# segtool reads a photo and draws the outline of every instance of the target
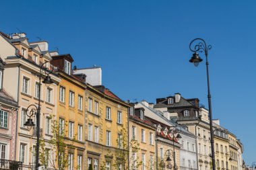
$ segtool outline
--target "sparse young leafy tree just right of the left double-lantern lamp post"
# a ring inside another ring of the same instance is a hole
[[[50,140],[40,137],[39,162],[44,170],[64,170],[69,165],[68,144],[65,143],[67,131],[64,128],[67,122],[59,122],[55,116],[50,118],[52,137]]]

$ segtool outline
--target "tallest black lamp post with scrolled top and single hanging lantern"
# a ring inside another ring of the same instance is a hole
[[[195,44],[194,44],[195,43]],[[193,46],[194,45],[194,46]],[[193,48],[192,48],[193,47]],[[197,52],[204,52],[206,58],[206,73],[207,73],[207,88],[208,88],[208,105],[209,105],[209,117],[210,117],[210,132],[211,132],[211,148],[212,148],[212,169],[216,170],[215,165],[215,155],[214,155],[214,130],[212,127],[212,103],[211,103],[211,93],[210,93],[210,82],[209,82],[209,62],[208,62],[208,50],[212,48],[211,45],[207,45],[205,40],[201,38],[195,38],[189,44],[189,49],[194,52],[193,56],[189,60],[189,62],[193,62],[195,67],[199,65],[203,59],[200,58]]]

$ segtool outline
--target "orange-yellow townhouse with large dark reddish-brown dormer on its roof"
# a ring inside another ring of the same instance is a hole
[[[83,170],[85,162],[85,90],[86,75],[75,77],[71,73],[73,58],[70,54],[55,55],[51,63],[61,82],[57,91],[57,120],[63,126],[68,149],[67,169]],[[67,126],[64,126],[67,124]]]

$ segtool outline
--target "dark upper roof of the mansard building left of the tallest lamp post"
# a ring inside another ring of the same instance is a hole
[[[180,101],[178,103],[173,103],[173,104],[166,104],[167,103],[167,100],[168,98],[174,98],[174,96],[168,96],[166,97],[164,100],[160,101],[159,103],[156,103],[154,105],[154,108],[168,108],[168,107],[172,107],[172,108],[175,108],[175,107],[186,107],[186,106],[195,106],[193,105],[193,103],[187,101],[187,99],[184,99],[183,97],[181,97]]]

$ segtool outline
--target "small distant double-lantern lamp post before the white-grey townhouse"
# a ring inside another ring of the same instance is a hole
[[[168,149],[166,151],[166,157],[167,157],[166,161],[168,162],[168,169],[172,169],[172,166],[170,164],[170,161],[171,161],[170,156],[172,155],[173,163],[174,163],[173,167],[174,167],[174,170],[177,170],[178,166],[176,165],[176,154],[175,154],[175,147],[174,147],[174,134],[177,134],[176,138],[179,140],[181,138],[181,134],[179,134],[181,132],[181,127],[171,126],[171,128],[173,128],[172,131],[171,131],[173,150],[171,151],[170,149]]]

